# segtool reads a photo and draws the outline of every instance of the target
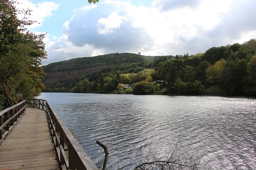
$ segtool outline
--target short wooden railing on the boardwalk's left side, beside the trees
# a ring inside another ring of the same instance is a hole
[[[26,109],[26,100],[0,112],[0,142],[19,121]],[[4,133],[4,134],[3,134]]]

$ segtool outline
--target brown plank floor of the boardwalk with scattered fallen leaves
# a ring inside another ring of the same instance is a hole
[[[0,170],[58,170],[56,150],[45,111],[26,108],[25,115],[0,145]]]

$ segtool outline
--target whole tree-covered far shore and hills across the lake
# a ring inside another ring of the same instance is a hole
[[[256,95],[256,40],[212,47],[196,55],[142,56],[115,53],[43,66],[44,92]],[[151,58],[151,60],[150,60]],[[55,72],[54,72],[55,71]],[[149,87],[148,82],[162,80]],[[162,89],[162,91],[161,91]]]

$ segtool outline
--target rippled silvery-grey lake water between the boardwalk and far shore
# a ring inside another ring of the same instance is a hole
[[[256,99],[248,97],[41,93],[96,165],[192,157],[201,169],[256,169]],[[128,165],[128,166],[126,166]]]

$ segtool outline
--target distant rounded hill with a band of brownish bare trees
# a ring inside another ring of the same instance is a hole
[[[144,68],[146,61],[152,60],[155,56],[142,56],[132,53],[113,53],[98,55],[94,57],[74,58],[66,61],[50,63],[42,66],[44,72],[44,85],[55,88],[56,85],[63,87],[67,82],[79,76],[91,73],[92,71],[123,66],[118,70],[128,70],[131,68]],[[143,70],[142,69],[142,70]],[[133,70],[134,71],[134,70]],[[141,69],[139,69],[141,71]]]

